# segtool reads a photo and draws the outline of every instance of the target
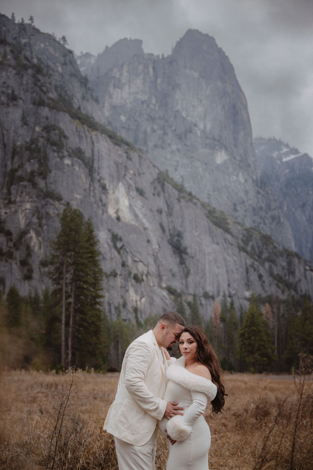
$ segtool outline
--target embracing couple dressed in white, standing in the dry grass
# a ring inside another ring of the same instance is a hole
[[[183,354],[177,360],[164,349],[176,342]],[[221,411],[224,394],[218,358],[201,329],[164,313],[128,347],[104,423],[115,436],[119,469],[154,469],[158,424],[168,439],[167,469],[208,470],[211,435],[203,413],[207,400]]]

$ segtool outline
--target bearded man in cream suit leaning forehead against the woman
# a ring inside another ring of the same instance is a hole
[[[157,420],[182,415],[177,402],[163,400],[168,361],[162,348],[173,346],[184,327],[178,313],[163,313],[154,329],[125,352],[115,401],[103,426],[115,437],[119,470],[153,470]]]

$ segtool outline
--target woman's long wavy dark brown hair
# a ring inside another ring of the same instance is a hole
[[[182,333],[184,332],[190,333],[197,341],[198,347],[196,351],[196,361],[209,369],[212,382],[217,386],[216,397],[211,401],[212,411],[217,414],[223,409],[225,404],[224,396],[227,396],[224,384],[221,382],[222,374],[220,361],[215,354],[213,347],[210,345],[209,340],[199,326],[193,325],[186,327],[183,329]]]

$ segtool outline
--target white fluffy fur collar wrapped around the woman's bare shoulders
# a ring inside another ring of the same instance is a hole
[[[185,369],[185,365],[184,357],[177,359],[168,367],[166,371],[167,378],[173,380],[176,384],[183,385],[188,390],[205,393],[208,399],[212,401],[217,393],[216,385],[205,377],[192,374],[192,372]]]

